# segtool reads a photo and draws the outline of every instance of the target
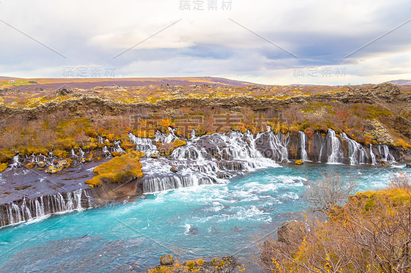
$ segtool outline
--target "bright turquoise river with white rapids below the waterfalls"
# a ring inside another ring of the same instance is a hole
[[[0,272],[137,271],[158,263],[172,245],[184,259],[234,255],[247,262],[252,235],[275,233],[299,198],[305,177],[320,171],[356,175],[360,190],[384,187],[403,167],[287,164],[200,185],[145,195],[145,199],[53,215],[0,229]]]

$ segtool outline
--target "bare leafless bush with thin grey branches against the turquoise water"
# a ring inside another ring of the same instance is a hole
[[[327,213],[331,207],[342,205],[358,188],[353,177],[342,179],[337,173],[321,172],[321,178],[314,183],[307,179],[308,188],[303,197],[313,212]]]

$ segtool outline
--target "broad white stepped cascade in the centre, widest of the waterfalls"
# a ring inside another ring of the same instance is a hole
[[[173,134],[161,135],[157,132],[156,135],[158,141],[162,139],[166,142],[167,137]],[[143,192],[223,183],[223,178],[238,172],[252,171],[257,167],[278,166],[256,149],[255,140],[258,137],[259,135],[254,138],[248,131],[195,137],[193,130],[192,138],[187,144],[175,149],[170,155],[173,165],[183,166],[177,174],[171,173],[170,165],[162,164],[158,159],[142,161],[143,173],[147,174],[142,179]]]

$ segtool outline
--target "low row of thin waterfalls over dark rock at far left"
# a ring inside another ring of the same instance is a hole
[[[82,204],[82,200],[87,200],[87,202]],[[91,207],[91,200],[81,189],[72,193],[57,193],[36,199],[24,197],[23,200],[0,206],[0,226],[41,218],[53,213],[81,210],[83,207]]]

